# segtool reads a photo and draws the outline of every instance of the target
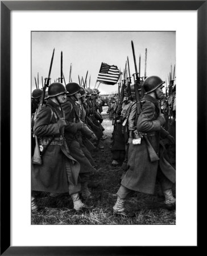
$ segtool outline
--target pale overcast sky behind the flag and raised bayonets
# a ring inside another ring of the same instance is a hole
[[[63,73],[69,81],[69,69],[72,63],[72,81],[78,83],[78,75],[85,80],[88,71],[87,84],[94,88],[101,63],[117,65],[125,68],[129,56],[130,73],[135,73],[131,40],[134,42],[136,64],[139,65],[141,55],[140,75],[144,76],[145,48],[147,48],[147,76],[156,75],[168,80],[168,74],[175,65],[175,32],[32,32],[32,90],[36,88],[34,77],[38,77],[42,87],[41,77],[47,77],[52,51],[55,48],[51,82],[60,77],[60,56],[63,51]],[[168,82],[167,82],[168,84]],[[98,85],[98,83],[97,83]],[[118,90],[118,85],[100,84],[101,94]]]

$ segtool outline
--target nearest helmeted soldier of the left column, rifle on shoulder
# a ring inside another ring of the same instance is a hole
[[[32,164],[32,209],[36,208],[35,191],[69,191],[75,210],[88,208],[79,197],[80,164],[71,156],[64,138],[67,123],[60,107],[66,100],[65,93],[65,86],[59,82],[49,86],[49,100],[40,110],[34,125],[34,133],[39,138],[42,164]]]

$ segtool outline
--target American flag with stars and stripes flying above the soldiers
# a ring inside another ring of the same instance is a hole
[[[101,63],[97,81],[102,82],[103,84],[114,85],[118,82],[119,74],[120,72],[117,66]]]

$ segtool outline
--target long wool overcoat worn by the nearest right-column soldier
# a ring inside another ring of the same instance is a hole
[[[160,125],[158,100],[149,95],[143,97],[142,112],[138,117],[136,128],[146,133],[148,141],[159,155],[159,160],[150,162],[146,139],[141,144],[130,144],[128,169],[121,184],[133,191],[153,194],[158,167],[169,181],[175,183],[175,169],[166,160],[166,150],[160,136],[169,133]],[[155,135],[152,135],[155,134]]]

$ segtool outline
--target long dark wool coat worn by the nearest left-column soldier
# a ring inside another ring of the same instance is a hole
[[[59,105],[48,100],[40,110],[35,125],[34,133],[42,141],[47,141],[53,135],[53,141],[60,141],[60,130],[57,125],[57,115],[62,117]],[[43,145],[45,147],[45,145]],[[66,168],[71,172],[68,180]],[[72,158],[67,144],[50,144],[42,156],[42,164],[32,164],[32,190],[44,192],[68,192],[68,184],[76,186],[79,182],[80,164]]]

